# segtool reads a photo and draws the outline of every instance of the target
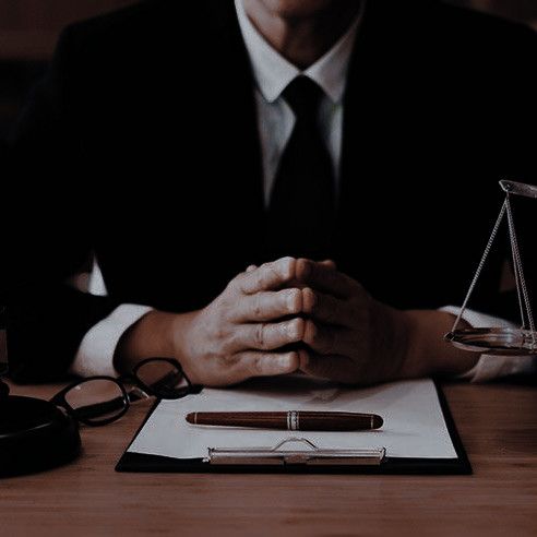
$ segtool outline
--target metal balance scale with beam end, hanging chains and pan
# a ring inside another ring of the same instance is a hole
[[[489,241],[485,248],[481,261],[474,275],[474,279],[469,286],[466,298],[464,299],[461,312],[453,324],[453,329],[444,336],[448,342],[451,342],[455,347],[472,350],[474,353],[482,353],[487,355],[517,355],[532,356],[537,355],[537,332],[535,331],[535,322],[532,314],[532,306],[522,268],[522,260],[518,251],[518,242],[513,222],[513,213],[511,208],[510,195],[523,195],[525,198],[537,199],[537,187],[533,184],[524,184],[514,181],[500,181],[500,187],[505,192],[505,201],[500,210],[498,219],[496,220]],[[508,215],[509,238],[511,242],[511,253],[513,255],[513,268],[516,283],[516,291],[518,296],[518,306],[521,310],[521,327],[520,329],[462,329],[457,330],[458,323],[466,309],[466,305],[472,296],[474,287],[477,284],[481,268],[485,265],[487,256],[492,247],[492,242],[498,234],[498,228],[502,223],[503,217]]]

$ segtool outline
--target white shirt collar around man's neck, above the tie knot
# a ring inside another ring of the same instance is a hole
[[[293,80],[299,74],[305,74],[317,82],[333,103],[338,103],[345,91],[347,69],[365,3],[365,1],[361,2],[360,13],[337,43],[306,71],[300,71],[279,55],[258,32],[248,19],[242,0],[235,0],[255,83],[264,99],[273,103]]]

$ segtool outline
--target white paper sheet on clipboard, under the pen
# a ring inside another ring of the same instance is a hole
[[[375,431],[307,432],[190,425],[191,411],[332,410],[379,414]],[[394,382],[368,389],[342,387],[303,377],[256,380],[235,389],[205,389],[196,395],[163,401],[129,452],[202,458],[207,448],[273,448],[306,438],[321,449],[385,448],[393,457],[456,458],[431,380]]]

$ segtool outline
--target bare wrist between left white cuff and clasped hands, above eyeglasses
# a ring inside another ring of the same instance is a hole
[[[184,335],[193,313],[169,313],[153,310],[129,327],[121,336],[114,366],[129,373],[145,358],[176,358],[182,361]]]

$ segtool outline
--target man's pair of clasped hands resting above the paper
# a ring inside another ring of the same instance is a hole
[[[333,262],[293,258],[248,267],[181,327],[184,371],[213,386],[298,370],[353,384],[391,380],[407,332],[402,312]]]

